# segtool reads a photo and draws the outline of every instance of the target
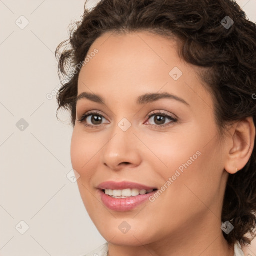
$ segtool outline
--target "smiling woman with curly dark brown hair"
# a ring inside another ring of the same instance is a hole
[[[72,166],[107,240],[90,255],[244,254],[255,235],[255,52],[255,24],[230,0],[85,9],[56,55]]]

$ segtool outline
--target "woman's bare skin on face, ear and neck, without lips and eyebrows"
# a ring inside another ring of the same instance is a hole
[[[197,67],[178,56],[174,39],[143,31],[107,32],[88,54],[95,48],[98,53],[80,70],[77,95],[92,92],[105,104],[78,100],[76,119],[90,110],[104,118],[101,124],[92,116],[75,122],[71,162],[80,175],[86,210],[109,242],[109,256],[233,256],[220,229],[221,208],[228,173],[243,168],[251,156],[252,118],[234,123],[219,138],[212,95],[196,75]],[[169,75],[173,67],[183,73],[178,80]],[[138,96],[155,92],[174,94],[189,105],[168,98],[136,104]],[[156,110],[178,121],[166,118],[165,127],[155,127],[155,115],[146,117]],[[118,126],[123,118],[131,124],[125,132]],[[102,203],[96,188],[101,182],[126,180],[160,189],[197,151],[201,155],[154,202],[125,212]],[[118,228],[123,221],[131,227],[125,234]]]

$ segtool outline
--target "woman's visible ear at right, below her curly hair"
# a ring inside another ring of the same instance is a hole
[[[225,170],[230,173],[236,173],[248,162],[255,142],[255,125],[253,118],[247,117],[238,123],[235,123],[230,137],[231,147],[228,147],[228,156],[225,161]],[[229,144],[229,143],[228,143]]]

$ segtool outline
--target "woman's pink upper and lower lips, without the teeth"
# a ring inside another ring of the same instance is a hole
[[[104,203],[106,207],[111,210],[115,211],[127,211],[132,210],[138,205],[142,204],[148,198],[155,193],[155,190],[151,193],[147,194],[139,194],[137,196],[130,196],[127,198],[113,198],[104,193],[104,189],[126,189],[126,188],[137,188],[138,190],[151,190],[156,189],[155,187],[149,187],[146,185],[129,182],[129,181],[122,181],[122,182],[114,182],[114,181],[106,181],[100,183],[97,187],[99,190],[101,201]]]

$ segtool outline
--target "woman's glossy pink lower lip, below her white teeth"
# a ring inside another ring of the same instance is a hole
[[[127,210],[132,210],[138,205],[142,204],[148,198],[156,192],[152,191],[151,193],[147,194],[139,194],[136,196],[130,196],[127,198],[113,198],[107,194],[104,193],[104,191],[99,190],[100,192],[100,197],[102,202],[106,207],[108,207],[111,210],[115,211],[127,211]]]

